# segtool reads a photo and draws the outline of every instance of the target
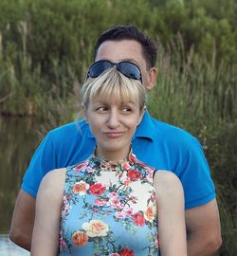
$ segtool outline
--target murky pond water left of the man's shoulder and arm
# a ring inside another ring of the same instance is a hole
[[[0,117],[0,255],[29,255],[7,234],[23,175],[40,141],[39,126],[35,119]]]

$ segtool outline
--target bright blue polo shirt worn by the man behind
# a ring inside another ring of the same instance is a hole
[[[96,141],[84,120],[50,131],[33,155],[22,189],[36,196],[50,170],[79,163],[93,153]],[[137,158],[157,170],[168,170],[182,182],[186,210],[210,202],[215,188],[199,141],[186,131],[151,118],[146,111],[132,139]]]

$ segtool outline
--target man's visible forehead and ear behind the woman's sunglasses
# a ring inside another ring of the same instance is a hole
[[[141,45],[135,40],[103,42],[98,49],[95,61],[101,60],[108,60],[113,63],[129,61],[137,64],[146,88],[151,90],[155,85],[156,70],[154,67],[151,69],[147,68]]]

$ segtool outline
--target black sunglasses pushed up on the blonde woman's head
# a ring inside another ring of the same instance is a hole
[[[112,63],[110,61],[99,61],[92,64],[88,70],[87,78],[97,78],[99,77],[105,70],[116,65],[118,71],[122,73],[125,77],[140,80],[141,72],[137,64],[133,64],[131,62],[119,62]]]

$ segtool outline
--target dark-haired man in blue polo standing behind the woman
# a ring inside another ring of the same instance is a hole
[[[141,70],[146,89],[155,86],[156,48],[136,27],[113,27],[102,33],[95,46],[95,61],[100,60],[133,62]],[[197,139],[146,112],[132,144],[140,160],[179,176],[185,192],[188,254],[212,255],[221,245],[219,213],[210,170]],[[30,249],[35,196],[43,176],[80,162],[94,147],[95,139],[84,121],[48,133],[31,159],[16,200],[9,232],[14,243]]]

